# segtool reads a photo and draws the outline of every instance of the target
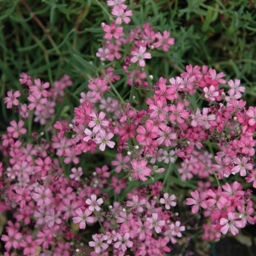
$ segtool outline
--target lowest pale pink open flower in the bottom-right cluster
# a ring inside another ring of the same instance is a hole
[[[226,234],[229,230],[230,232],[236,236],[239,233],[237,227],[244,227],[244,223],[241,221],[237,221],[239,215],[233,212],[227,213],[227,218],[221,218],[219,223],[222,225],[221,233]]]

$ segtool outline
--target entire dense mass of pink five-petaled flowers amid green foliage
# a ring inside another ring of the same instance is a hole
[[[208,66],[150,76],[154,53],[175,39],[148,23],[128,29],[125,0],[106,3],[114,22],[102,23],[96,56],[109,65],[71,116],[56,112],[73,85],[67,74],[50,84],[22,73],[24,90],[4,98],[17,112],[0,145],[5,256],[166,255],[190,242],[198,214],[211,241],[256,221],[256,108],[241,99],[246,88]],[[116,82],[131,86],[129,101]]]

